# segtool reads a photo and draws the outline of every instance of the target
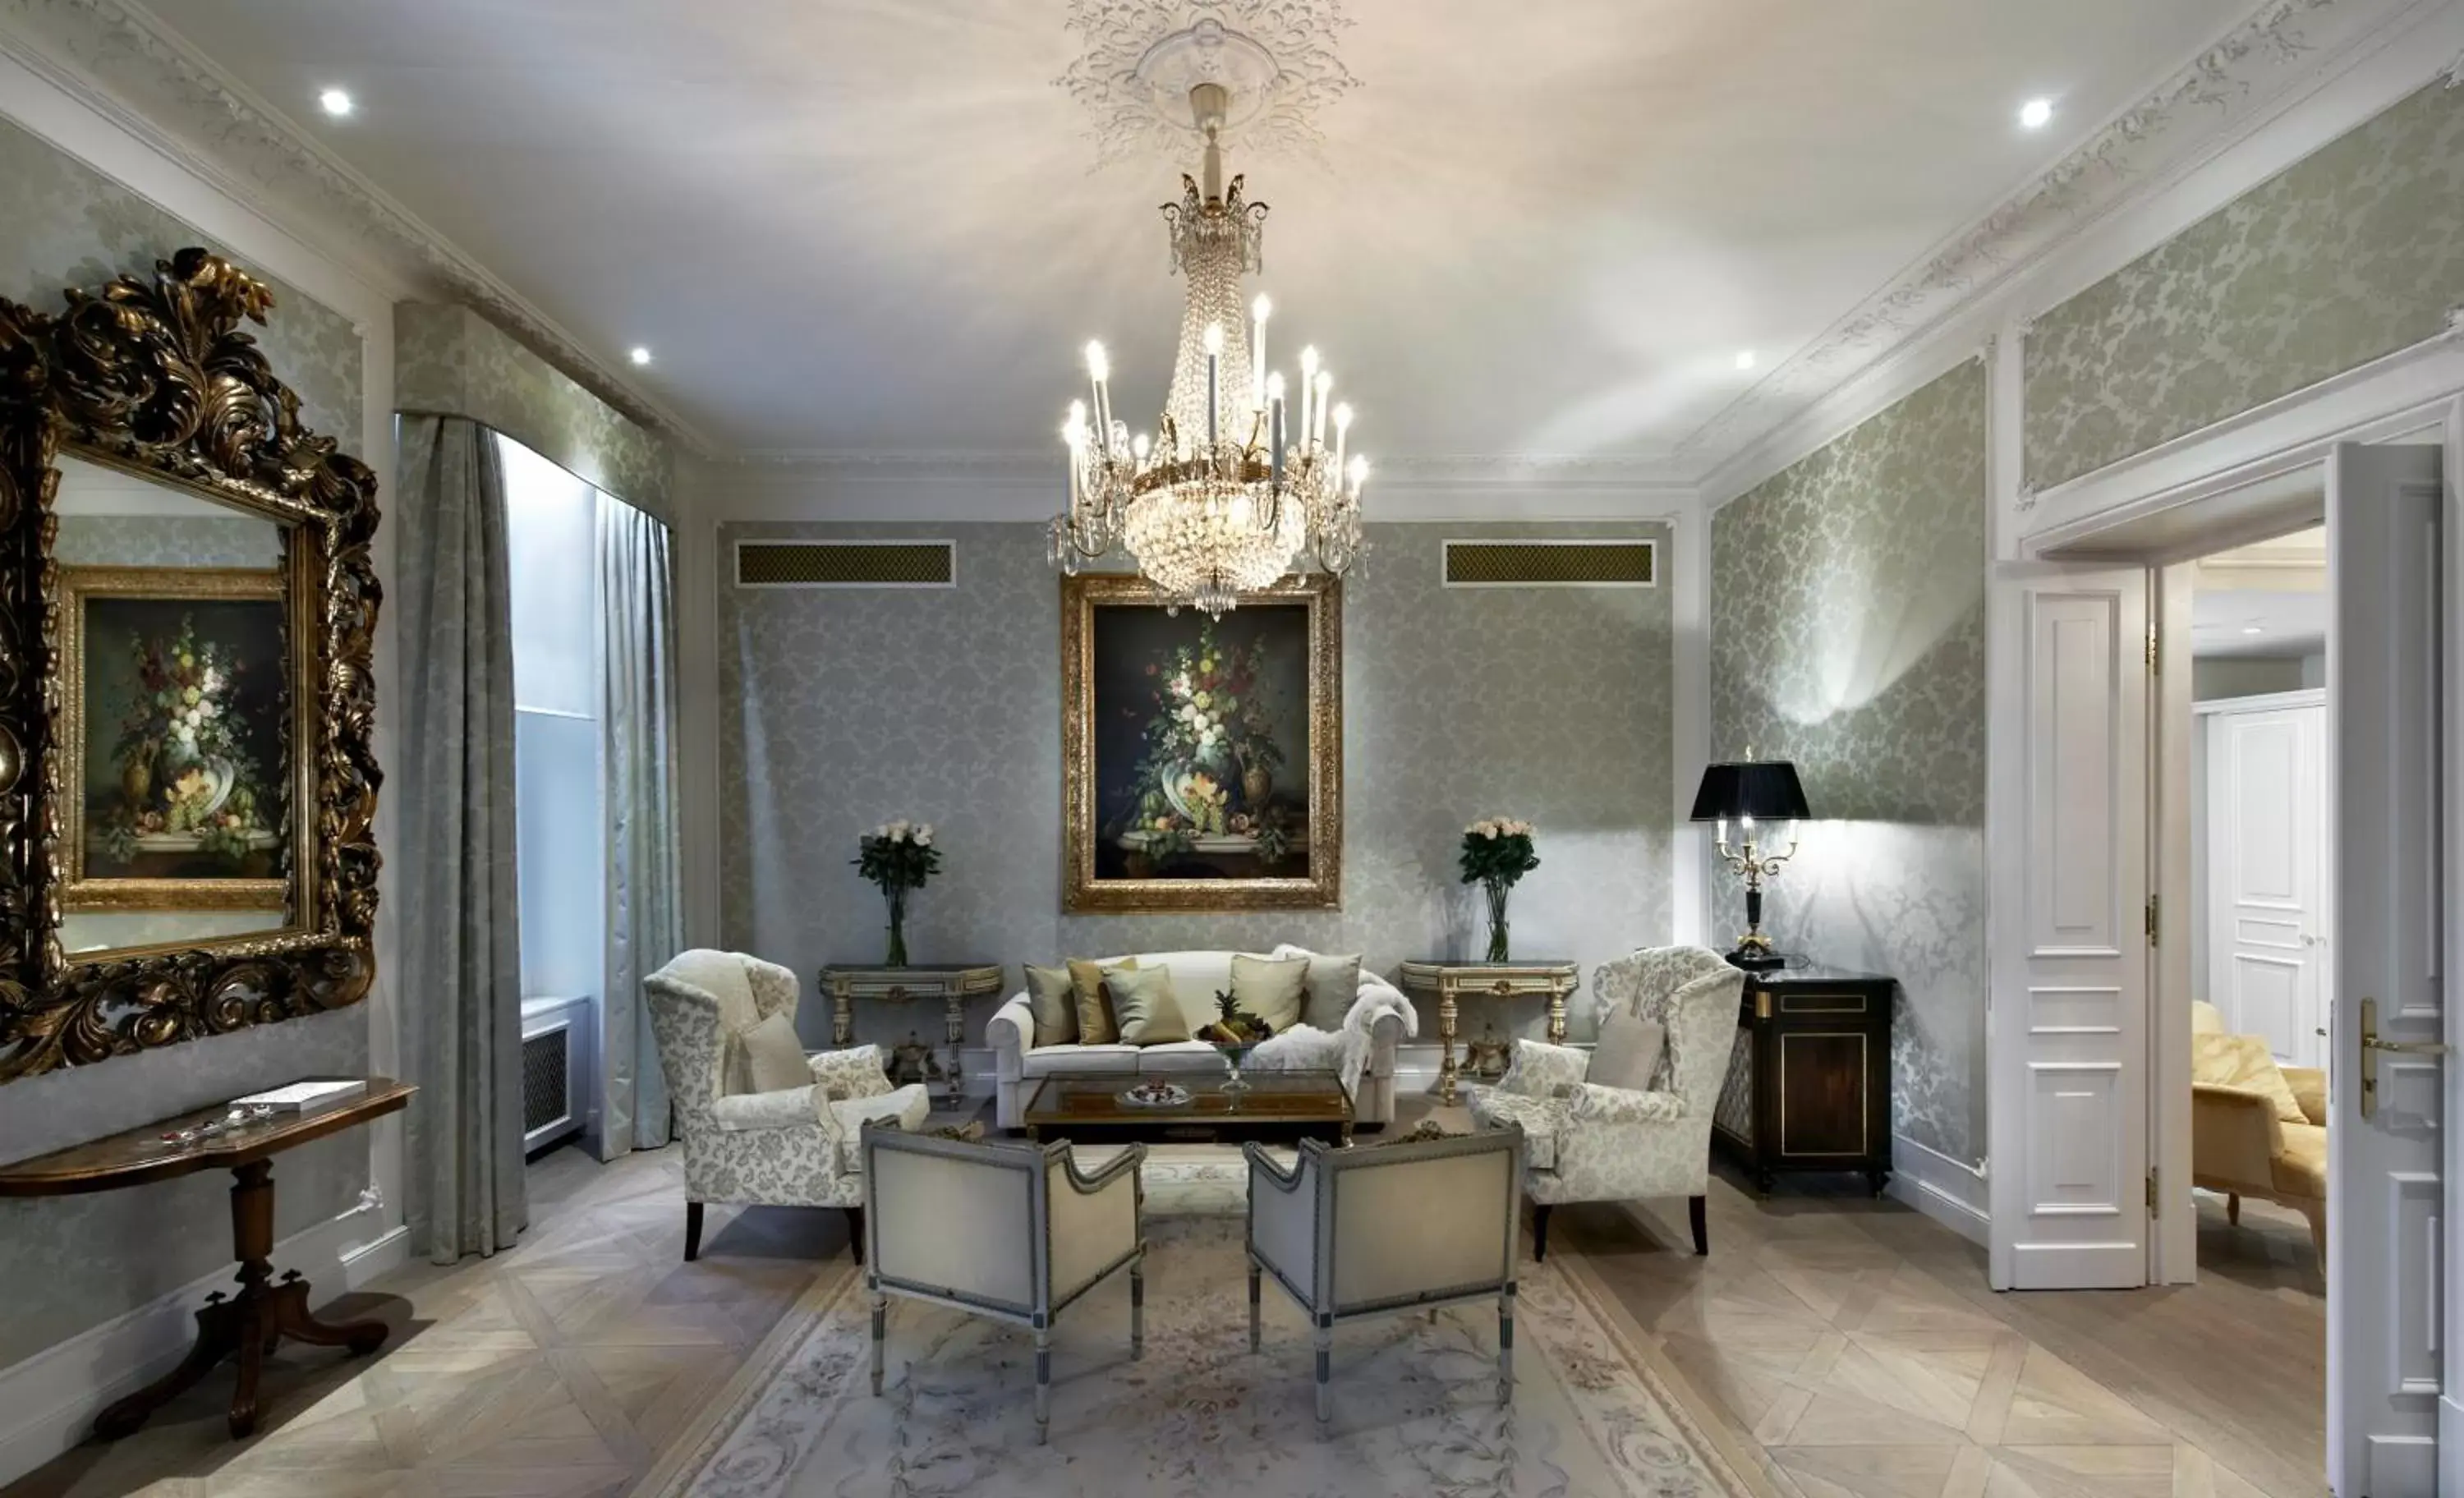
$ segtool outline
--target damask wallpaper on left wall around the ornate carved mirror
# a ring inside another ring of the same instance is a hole
[[[214,241],[0,121],[0,296],[59,308],[64,286],[150,273],[187,244]],[[246,264],[246,256],[237,256]],[[301,392],[301,416],[357,446],[362,345],[340,313],[274,286],[256,328],[274,370]],[[207,522],[212,525],[212,522]],[[84,545],[74,532],[69,547]],[[47,1072],[0,1087],[0,1158],[17,1160],[180,1109],[308,1074],[367,1069],[367,1008],[264,1025]],[[278,1229],[330,1220],[367,1183],[367,1138],[345,1133],[283,1156]],[[212,1175],[91,1197],[0,1202],[0,1367],[89,1330],[192,1279],[229,1269],[229,1183]]]

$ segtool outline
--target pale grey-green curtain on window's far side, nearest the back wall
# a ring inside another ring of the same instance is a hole
[[[606,995],[599,1158],[668,1143],[668,1077],[641,981],[685,946],[675,825],[675,586],[668,527],[599,495],[599,737],[606,764]]]

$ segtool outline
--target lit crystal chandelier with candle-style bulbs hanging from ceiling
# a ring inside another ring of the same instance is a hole
[[[1175,606],[1222,616],[1239,594],[1264,589],[1303,554],[1326,572],[1360,559],[1360,485],[1368,458],[1345,458],[1350,407],[1328,407],[1335,377],[1318,350],[1301,350],[1299,409],[1284,377],[1266,372],[1266,315],[1259,296],[1242,318],[1242,276],[1259,269],[1264,202],[1242,202],[1242,180],[1222,180],[1230,91],[1190,89],[1205,136],[1205,182],[1180,177],[1180,202],[1163,204],[1173,269],[1188,278],[1180,357],[1158,434],[1131,436],[1111,414],[1111,365],[1087,345],[1089,402],[1069,402],[1069,508],[1052,517],[1052,562],[1077,572],[1129,547],[1138,572]],[[1333,441],[1328,443],[1328,429]]]

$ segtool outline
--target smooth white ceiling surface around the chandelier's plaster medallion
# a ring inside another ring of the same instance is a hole
[[[1321,160],[1232,150],[1279,352],[1372,456],[1666,458],[2250,5],[1353,0]],[[1042,453],[1092,335],[1161,404],[1193,163],[1094,165],[1062,0],[153,12],[719,451]]]

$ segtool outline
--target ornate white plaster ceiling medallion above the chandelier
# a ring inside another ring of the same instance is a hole
[[[1096,160],[1185,153],[1190,89],[1227,94],[1220,133],[1257,155],[1316,155],[1313,116],[1358,86],[1335,57],[1343,0],[1072,0],[1087,54],[1057,86],[1094,113]]]

